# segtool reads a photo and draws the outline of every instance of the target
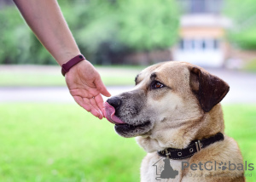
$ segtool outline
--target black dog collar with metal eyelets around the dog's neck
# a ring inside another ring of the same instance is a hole
[[[201,151],[201,149],[220,140],[224,140],[224,135],[218,133],[207,139],[193,140],[189,146],[184,149],[167,148],[166,150],[158,151],[157,153],[159,156],[168,157],[170,159],[184,159],[193,156],[197,151]]]

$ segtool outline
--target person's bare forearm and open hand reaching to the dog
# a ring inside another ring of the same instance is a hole
[[[80,54],[56,0],[14,0],[20,13],[39,41],[59,65]],[[103,117],[102,95],[110,96],[99,73],[89,61],[74,65],[66,76],[74,100],[94,116]]]

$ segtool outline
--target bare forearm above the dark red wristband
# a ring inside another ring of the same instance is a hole
[[[14,0],[39,41],[62,65],[80,54],[56,0]]]

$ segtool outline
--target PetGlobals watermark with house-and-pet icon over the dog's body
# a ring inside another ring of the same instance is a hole
[[[156,179],[175,179],[178,175],[178,170],[172,168],[172,163],[170,159],[162,157],[159,161],[155,162],[153,165],[156,168]],[[173,166],[174,167],[174,166]],[[182,171],[185,169],[189,169],[190,173],[186,176],[188,177],[200,177],[194,176],[193,171],[225,171],[225,174],[231,175],[231,171],[240,171],[241,173],[250,172],[254,170],[253,163],[245,162],[243,163],[233,163],[233,162],[216,162],[216,161],[208,161],[208,162],[198,162],[198,163],[189,163],[189,162],[182,162]],[[230,172],[229,172],[230,171]],[[212,175],[212,174],[211,174]],[[214,175],[214,174],[213,174]],[[216,175],[222,175],[222,173],[217,173]],[[251,177],[252,173],[245,173],[246,177]],[[207,173],[205,175],[201,175],[201,177],[207,177]],[[208,176],[210,177],[210,176]],[[223,176],[224,177],[224,176]]]

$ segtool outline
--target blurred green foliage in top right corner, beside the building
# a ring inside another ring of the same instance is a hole
[[[230,40],[241,48],[256,48],[256,1],[227,0],[225,12],[234,21]]]

